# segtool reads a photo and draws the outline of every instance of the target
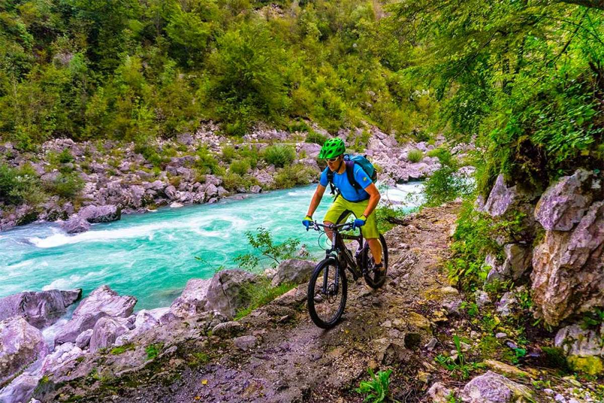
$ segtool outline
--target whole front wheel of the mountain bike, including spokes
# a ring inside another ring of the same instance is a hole
[[[308,283],[308,313],[316,326],[330,329],[338,323],[344,314],[347,292],[344,268],[338,267],[333,258],[321,260]]]

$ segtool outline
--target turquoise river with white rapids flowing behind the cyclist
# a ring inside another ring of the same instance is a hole
[[[419,182],[397,185],[383,191],[382,198],[412,208],[407,195],[420,187]],[[137,310],[169,306],[188,279],[209,278],[219,266],[234,267],[233,257],[251,250],[245,232],[257,227],[268,228],[275,242],[297,237],[319,257],[318,233],[301,225],[314,189],[309,185],[243,200],[160,208],[95,224],[72,236],[57,224],[2,232],[0,297],[71,288],[82,288],[87,295],[106,284],[137,297]],[[330,197],[326,192],[315,218],[323,217]]]

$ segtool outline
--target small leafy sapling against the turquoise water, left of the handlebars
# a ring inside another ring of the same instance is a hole
[[[300,239],[289,237],[281,243],[275,243],[269,230],[264,227],[258,227],[256,230],[255,234],[251,231],[245,233],[249,245],[256,253],[240,254],[235,257],[234,262],[237,265],[251,270],[260,264],[260,259],[269,259],[272,260],[271,266],[277,267],[281,260],[292,259],[295,256]]]

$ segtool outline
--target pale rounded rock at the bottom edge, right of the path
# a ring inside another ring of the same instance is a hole
[[[530,402],[532,398],[529,388],[491,371],[472,379],[461,393],[466,403]]]

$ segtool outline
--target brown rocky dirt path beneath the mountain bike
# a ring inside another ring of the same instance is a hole
[[[389,231],[387,284],[371,291],[362,280],[349,280],[346,311],[334,329],[324,331],[310,321],[303,309],[306,287],[300,286],[241,320],[245,335],[256,338],[248,350],[227,341],[218,359],[185,370],[177,381],[122,390],[110,400],[360,402],[350,390],[367,378],[367,367],[396,367],[399,399],[421,401],[413,379],[426,366],[424,346],[432,338],[434,323],[426,317],[446,291],[439,267],[449,253],[456,210],[426,208]]]

